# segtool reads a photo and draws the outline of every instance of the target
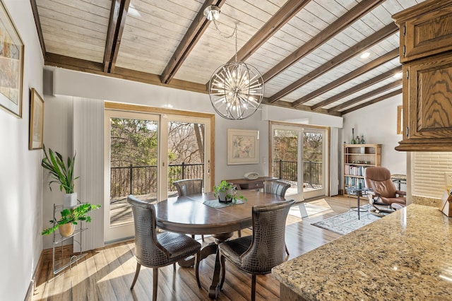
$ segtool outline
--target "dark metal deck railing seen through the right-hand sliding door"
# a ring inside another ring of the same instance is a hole
[[[323,185],[323,164],[321,162],[305,161],[303,170],[304,183],[311,185]],[[273,161],[273,177],[297,182],[297,161]]]

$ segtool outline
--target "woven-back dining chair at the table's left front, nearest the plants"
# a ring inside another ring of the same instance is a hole
[[[131,290],[138,279],[141,266],[153,268],[153,300],[157,300],[158,268],[175,264],[179,259],[184,259],[196,254],[195,273],[198,287],[199,261],[201,260],[201,244],[193,238],[174,232],[162,232],[157,235],[155,208],[153,204],[136,199],[135,196],[127,196],[127,202],[131,205],[133,222],[135,224],[135,256],[136,271]]]

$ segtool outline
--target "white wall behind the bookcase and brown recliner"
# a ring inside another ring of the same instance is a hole
[[[381,166],[391,170],[391,174],[407,175],[406,153],[394,149],[402,140],[402,136],[396,134],[398,105],[402,105],[402,94],[345,114],[342,140],[339,141],[350,143],[352,128],[355,128],[355,137],[364,135],[366,143],[382,144]],[[343,168],[341,170],[343,174]]]

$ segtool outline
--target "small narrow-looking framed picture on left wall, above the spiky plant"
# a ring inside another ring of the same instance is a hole
[[[35,150],[42,148],[42,138],[44,136],[44,100],[31,88],[30,93],[30,139],[28,149]]]

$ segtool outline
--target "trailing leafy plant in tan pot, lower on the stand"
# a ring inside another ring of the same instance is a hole
[[[87,223],[91,222],[91,217],[88,216],[90,211],[100,208],[100,205],[93,205],[91,203],[82,203],[80,206],[72,208],[64,208],[61,211],[61,218],[59,220],[49,220],[52,227],[42,230],[42,235],[48,235],[59,228],[61,236],[71,236],[78,220],[84,220]]]

